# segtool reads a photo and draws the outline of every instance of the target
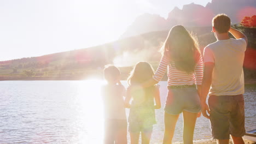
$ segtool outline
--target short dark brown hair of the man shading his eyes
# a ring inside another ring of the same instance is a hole
[[[230,18],[226,14],[218,14],[212,19],[212,26],[218,33],[229,32],[230,25]]]

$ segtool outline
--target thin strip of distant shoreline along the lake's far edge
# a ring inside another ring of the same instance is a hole
[[[89,77],[84,76],[0,76],[0,81],[78,81],[86,80],[88,78]],[[165,78],[162,80],[167,81]],[[253,84],[256,84],[256,79],[245,79],[245,85]]]

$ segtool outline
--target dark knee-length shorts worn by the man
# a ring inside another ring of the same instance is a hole
[[[229,135],[245,135],[245,101],[243,95],[211,95],[209,100],[213,139],[227,140]]]

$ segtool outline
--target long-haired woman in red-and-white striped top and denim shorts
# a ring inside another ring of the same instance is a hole
[[[183,141],[193,143],[196,118],[200,117],[203,63],[197,41],[183,26],[174,26],[161,49],[158,70],[142,87],[158,83],[167,70],[168,95],[165,104],[165,134],[162,143],[171,143],[175,125],[183,113]],[[198,115],[197,115],[198,113]]]

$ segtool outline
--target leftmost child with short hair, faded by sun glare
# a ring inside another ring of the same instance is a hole
[[[105,144],[127,143],[127,121],[124,99],[125,88],[120,83],[120,71],[114,65],[104,68],[107,85],[102,87],[105,108]]]

